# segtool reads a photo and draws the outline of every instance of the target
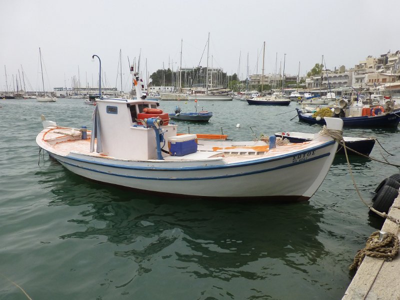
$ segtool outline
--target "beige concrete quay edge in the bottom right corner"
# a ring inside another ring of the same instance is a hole
[[[400,219],[400,195],[394,199],[388,215]],[[381,230],[400,237],[399,227],[388,219],[384,221]],[[400,299],[400,253],[392,261],[365,256],[342,297],[342,300],[350,299]]]

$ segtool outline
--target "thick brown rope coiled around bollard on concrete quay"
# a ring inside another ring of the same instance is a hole
[[[365,247],[357,251],[350,270],[356,270],[361,265],[365,255],[377,258],[384,258],[385,261],[391,261],[397,254],[399,248],[398,237],[396,234],[385,232],[383,237],[379,238],[379,231],[372,232],[365,243]]]

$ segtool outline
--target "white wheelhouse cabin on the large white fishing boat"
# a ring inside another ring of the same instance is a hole
[[[96,100],[98,113],[98,143],[101,142],[100,154],[124,159],[148,160],[157,159],[157,132],[162,135],[160,145],[168,151],[169,137],[176,136],[176,125],[169,124],[167,113],[157,109],[153,100],[107,98]],[[146,110],[156,113],[146,113]],[[166,118],[165,118],[166,115]],[[145,123],[147,119],[158,118],[159,128]],[[93,124],[94,128],[94,124]],[[159,129],[159,130],[158,130]],[[97,135],[98,135],[97,134]],[[166,156],[168,154],[162,153]]]

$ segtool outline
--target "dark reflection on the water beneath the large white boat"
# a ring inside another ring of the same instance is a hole
[[[175,271],[198,278],[259,279],[281,274],[281,264],[308,273],[327,254],[318,240],[321,209],[308,202],[162,199],[104,187],[68,171],[56,181],[49,205],[82,206],[79,217],[68,222],[85,225],[60,238],[106,236],[112,244],[125,245],[113,254],[132,258],[139,265],[137,274],[150,272],[163,259]],[[253,262],[260,265],[248,267]]]

